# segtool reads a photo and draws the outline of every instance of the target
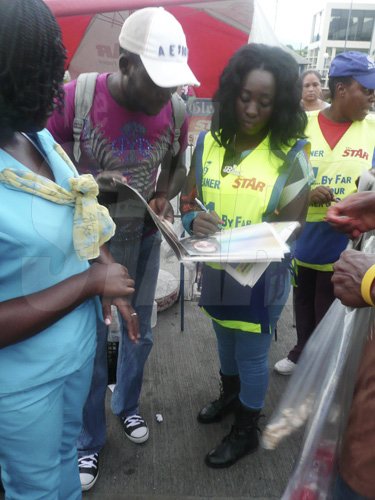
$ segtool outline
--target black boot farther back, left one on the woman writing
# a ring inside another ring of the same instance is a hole
[[[220,372],[221,387],[219,399],[215,399],[198,413],[198,422],[211,424],[218,422],[224,415],[235,410],[240,393],[240,377],[238,375],[223,375]]]

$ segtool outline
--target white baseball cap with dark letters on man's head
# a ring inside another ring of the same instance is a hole
[[[119,43],[123,49],[140,56],[158,87],[200,85],[187,63],[182,26],[163,7],[147,7],[131,14],[122,26]]]

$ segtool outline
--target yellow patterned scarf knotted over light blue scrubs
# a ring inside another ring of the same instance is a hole
[[[0,172],[0,182],[59,205],[74,206],[73,244],[81,260],[98,257],[101,245],[114,235],[115,223],[108,210],[99,205],[98,185],[90,174],[69,179],[71,191],[41,175],[9,168]]]

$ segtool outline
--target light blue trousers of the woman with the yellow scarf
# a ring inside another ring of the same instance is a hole
[[[77,436],[92,375],[76,372],[0,397],[0,466],[6,498],[80,500]]]

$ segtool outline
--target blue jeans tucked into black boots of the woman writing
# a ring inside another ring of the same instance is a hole
[[[249,333],[212,322],[217,337],[220,369],[224,375],[239,375],[240,401],[248,408],[263,408],[268,387],[269,333]]]

